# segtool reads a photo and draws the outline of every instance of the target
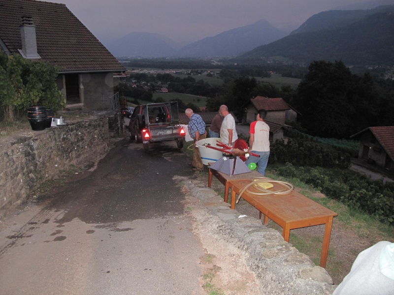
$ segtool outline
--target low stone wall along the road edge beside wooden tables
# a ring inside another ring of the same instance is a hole
[[[261,294],[331,295],[336,286],[324,269],[298,252],[283,236],[264,226],[261,220],[230,209],[213,189],[199,180],[175,177],[196,198],[191,211],[197,226],[221,241],[242,250],[244,259],[256,274]]]

